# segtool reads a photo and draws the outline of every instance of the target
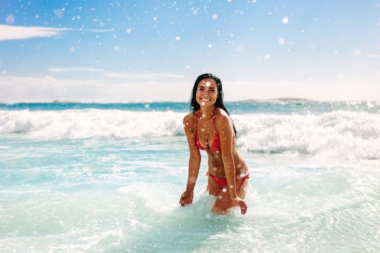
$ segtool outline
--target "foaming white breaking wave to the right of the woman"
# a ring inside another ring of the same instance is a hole
[[[234,117],[239,147],[251,152],[380,159],[380,117],[368,112]],[[240,138],[239,138],[240,136]]]

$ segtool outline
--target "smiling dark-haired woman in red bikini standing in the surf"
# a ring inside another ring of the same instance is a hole
[[[240,206],[244,215],[248,166],[236,147],[235,126],[223,104],[222,81],[212,74],[200,75],[193,87],[191,108],[183,118],[190,158],[186,191],[179,203],[185,206],[193,202],[202,149],[208,155],[207,190],[218,197],[211,212],[226,214],[229,208]]]

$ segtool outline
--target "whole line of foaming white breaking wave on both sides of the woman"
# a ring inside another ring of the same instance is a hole
[[[184,114],[101,109],[0,110],[0,136],[59,140],[184,135]],[[232,118],[239,149],[244,151],[380,159],[378,114],[338,110],[319,115],[244,114]]]

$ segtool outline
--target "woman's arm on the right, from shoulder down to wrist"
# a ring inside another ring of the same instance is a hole
[[[222,148],[222,159],[229,187],[230,197],[231,199],[234,199],[238,195],[236,195],[235,164],[232,155],[233,126],[230,117],[224,111],[221,113],[221,116],[219,117],[217,129],[219,130],[220,145]]]

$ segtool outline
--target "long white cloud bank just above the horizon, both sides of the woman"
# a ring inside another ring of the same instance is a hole
[[[379,72],[380,73],[380,72]],[[312,100],[378,100],[380,75],[330,80],[225,80],[225,101],[305,98]],[[0,102],[187,102],[193,80],[57,79],[52,76],[0,76]]]

